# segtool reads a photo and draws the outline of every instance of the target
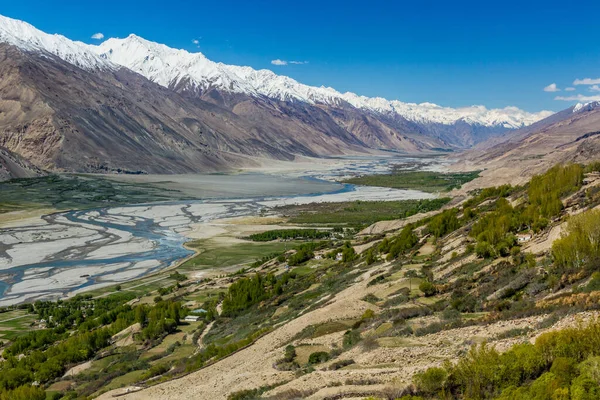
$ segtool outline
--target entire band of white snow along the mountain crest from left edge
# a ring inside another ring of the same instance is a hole
[[[203,93],[215,88],[250,96],[264,96],[289,102],[306,102],[339,107],[344,104],[384,116],[400,116],[424,124],[466,123],[486,127],[520,128],[552,114],[528,113],[516,107],[487,109],[475,105],[462,108],[433,103],[404,103],[381,97],[340,93],[333,88],[308,86],[273,71],[226,65],[209,60],[200,52],[170,48],[131,34],[125,39],[108,39],[98,46],[75,42],[61,35],[49,35],[18,20],[0,16],[0,42],[28,51],[54,54],[85,69],[116,68],[137,72],[149,80],[175,88],[180,84]]]

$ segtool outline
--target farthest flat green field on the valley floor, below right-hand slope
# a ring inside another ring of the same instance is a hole
[[[343,181],[353,185],[381,186],[394,189],[414,189],[423,192],[449,192],[479,176],[479,171],[442,173],[433,171],[399,171],[390,174],[364,175]]]

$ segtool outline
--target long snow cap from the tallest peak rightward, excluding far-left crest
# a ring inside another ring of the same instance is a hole
[[[301,84],[273,71],[255,70],[216,63],[202,53],[190,53],[150,42],[135,35],[125,39],[108,39],[92,47],[101,57],[127,67],[165,87],[176,87],[185,81],[194,89],[220,90],[261,95],[282,101],[301,101],[309,104],[340,105],[349,103],[379,114],[397,114],[417,123],[454,124],[464,121],[482,126],[520,128],[552,114],[550,111],[528,113],[516,107],[487,109],[484,106],[463,108],[441,107],[433,103],[403,103],[381,97],[365,97],[340,93],[330,87]]]

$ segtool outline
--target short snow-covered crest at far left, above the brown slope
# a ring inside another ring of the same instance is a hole
[[[62,35],[50,35],[34,26],[0,15],[0,42],[27,51],[53,54],[64,61],[89,70],[114,68],[112,63],[99,57],[90,46],[75,42]]]

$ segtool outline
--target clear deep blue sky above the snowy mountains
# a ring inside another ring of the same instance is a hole
[[[527,0],[0,4],[0,14],[88,43],[97,42],[91,36],[98,32],[105,38],[135,33],[202,51],[213,61],[269,68],[340,91],[527,111],[556,111],[575,102],[556,97],[600,99],[594,81],[573,85],[600,78],[599,11],[598,2],[573,7]],[[552,91],[553,83],[560,91]]]

